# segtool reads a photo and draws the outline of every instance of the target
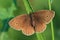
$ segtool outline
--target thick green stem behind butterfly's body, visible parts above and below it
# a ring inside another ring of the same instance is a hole
[[[28,14],[31,13],[31,12],[34,12],[32,7],[30,6],[30,3],[29,3],[28,0],[23,0],[23,2],[24,2],[25,8],[26,8],[26,11],[27,11]],[[43,40],[42,34],[36,33],[36,36],[37,36],[38,40],[41,40],[41,39]],[[40,37],[41,37],[41,39],[40,39]]]

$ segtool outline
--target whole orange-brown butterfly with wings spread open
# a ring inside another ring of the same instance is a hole
[[[9,21],[9,25],[15,30],[22,30],[24,35],[30,36],[36,32],[44,32],[46,24],[49,24],[54,16],[55,12],[52,10],[40,10],[16,16]]]

